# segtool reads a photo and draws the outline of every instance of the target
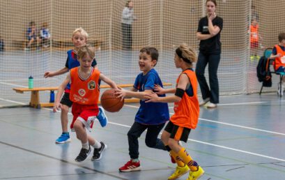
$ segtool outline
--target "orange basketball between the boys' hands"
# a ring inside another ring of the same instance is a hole
[[[107,112],[118,112],[124,105],[124,100],[116,98],[115,89],[107,89],[101,96],[101,105]]]

